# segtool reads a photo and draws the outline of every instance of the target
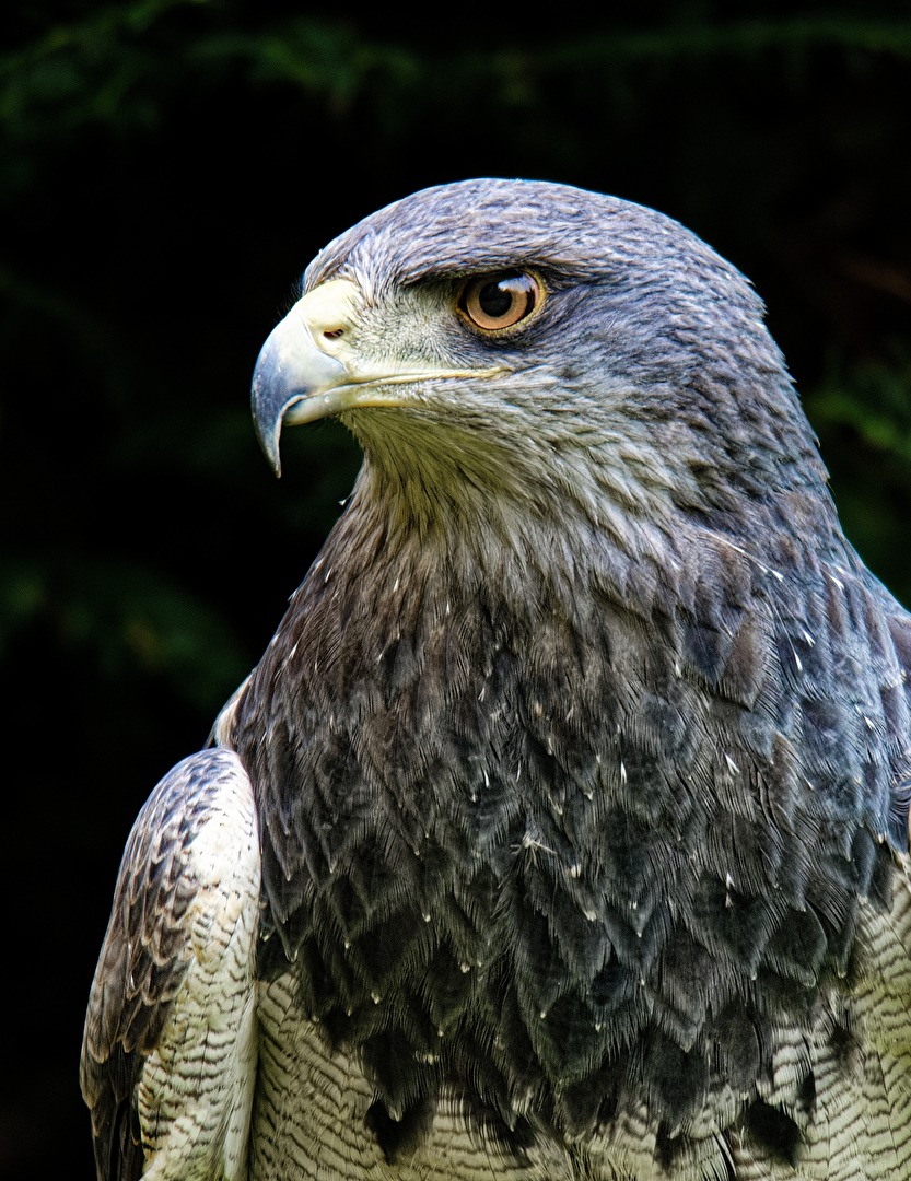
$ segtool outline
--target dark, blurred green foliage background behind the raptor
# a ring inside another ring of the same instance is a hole
[[[0,17],[4,1177],[92,1175],[77,1059],[129,827],[357,469],[324,425],[276,483],[247,410],[297,276],[357,218],[494,175],[690,226],[766,299],[848,535],[911,602],[907,4],[380,8]]]

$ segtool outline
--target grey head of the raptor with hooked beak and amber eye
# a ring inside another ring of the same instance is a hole
[[[331,242],[253,415],[276,472],[282,426],[339,417],[412,505],[670,522],[826,478],[748,281],[669,217],[541,182],[427,189]]]

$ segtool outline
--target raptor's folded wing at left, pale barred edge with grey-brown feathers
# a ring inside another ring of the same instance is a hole
[[[80,1084],[99,1181],[242,1170],[255,1078],[260,862],[249,779],[208,750],[152,791],[124,852]]]

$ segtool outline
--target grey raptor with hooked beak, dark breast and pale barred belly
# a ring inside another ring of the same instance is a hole
[[[98,1176],[911,1176],[911,620],[744,278],[558,184],[306,270],[256,430],[364,464],[130,836]]]

